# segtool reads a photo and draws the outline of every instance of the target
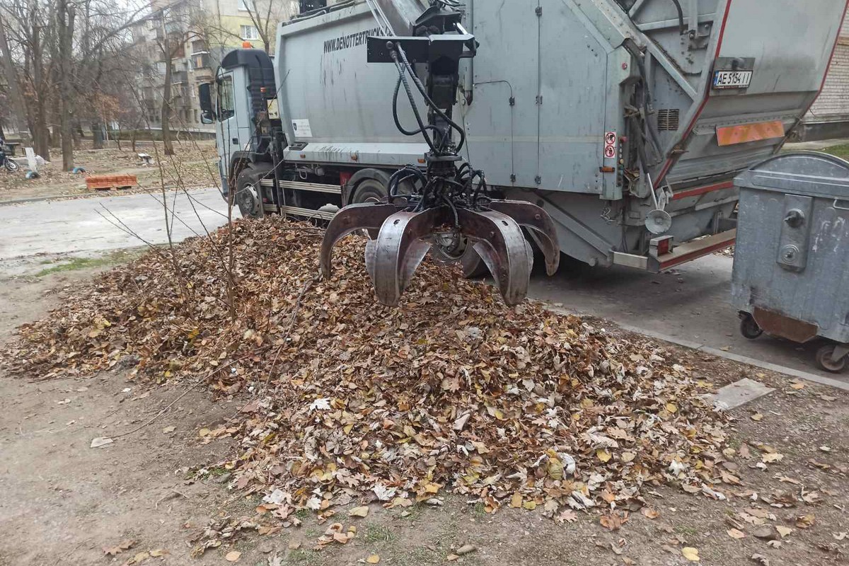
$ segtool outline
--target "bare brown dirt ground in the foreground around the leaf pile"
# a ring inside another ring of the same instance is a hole
[[[0,341],[97,271],[0,283]],[[250,528],[236,531],[200,558],[191,558],[191,551],[211,521],[257,518],[261,494],[245,497],[228,490],[227,471],[215,468],[232,455],[230,440],[209,442],[200,435],[226,423],[244,400],[214,403],[208,392],[193,389],[149,426],[92,448],[95,438],[115,438],[148,422],[188,386],[139,383],[126,369],[80,380],[0,375],[0,533],[5,535],[0,565],[319,566],[378,558],[399,565],[655,565],[690,563],[684,548],[696,549],[703,564],[849,563],[849,395],[692,350],[668,350],[717,387],[748,377],[776,389],[732,412],[735,451],[727,454],[732,462],[723,486],[728,501],[657,487],[648,490],[656,515],[635,509],[618,530],[599,524],[598,513],[578,512],[574,522],[562,525],[538,510],[505,508],[487,515],[458,496],[437,507],[392,510],[351,502],[370,510],[366,518],[338,511],[335,519],[346,529],[357,528],[345,546],[312,550],[328,524],[301,512],[300,526],[264,535]],[[775,526],[790,530],[779,534]],[[122,550],[125,541],[132,544]],[[471,552],[459,552],[470,546]],[[113,557],[104,548],[120,552]]]

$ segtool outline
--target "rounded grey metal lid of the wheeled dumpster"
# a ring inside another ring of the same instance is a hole
[[[818,151],[781,154],[744,171],[734,184],[738,188],[849,199],[849,161]]]

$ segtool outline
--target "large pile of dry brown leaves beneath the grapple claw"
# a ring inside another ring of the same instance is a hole
[[[284,521],[364,498],[439,504],[444,490],[554,518],[638,503],[645,484],[722,498],[724,417],[663,350],[508,308],[427,262],[400,307],[381,306],[362,239],[337,247],[331,281],[316,277],[321,235],[238,223],[233,277],[226,228],[177,247],[179,277],[167,252],[150,253],[21,328],[8,367],[51,377],[132,361],[238,393],[239,418],[203,435],[239,440],[221,462],[233,486],[265,494]]]

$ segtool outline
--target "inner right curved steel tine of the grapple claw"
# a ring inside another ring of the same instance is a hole
[[[495,210],[459,209],[458,214],[464,235],[475,241],[475,251],[489,267],[504,302],[513,306],[525,300],[533,255],[519,224]]]

